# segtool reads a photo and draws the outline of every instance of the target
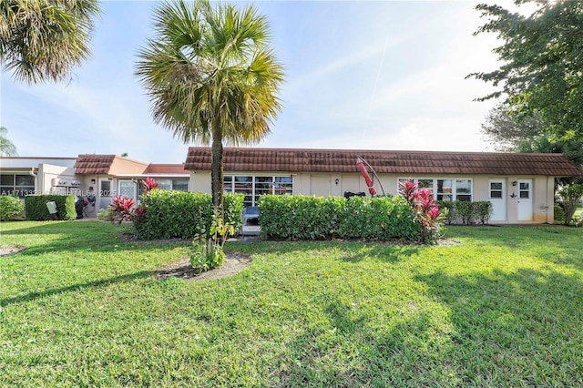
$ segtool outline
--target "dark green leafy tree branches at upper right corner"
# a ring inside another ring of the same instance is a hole
[[[486,97],[503,97],[513,112],[536,113],[552,141],[583,138],[583,2],[536,2],[532,15],[500,5],[476,6],[487,18],[476,34],[494,33],[503,44],[494,52],[503,62],[491,72],[472,73],[497,87]]]

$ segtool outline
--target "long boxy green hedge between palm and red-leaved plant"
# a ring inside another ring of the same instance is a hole
[[[419,240],[403,197],[261,196],[261,234],[283,240]]]

